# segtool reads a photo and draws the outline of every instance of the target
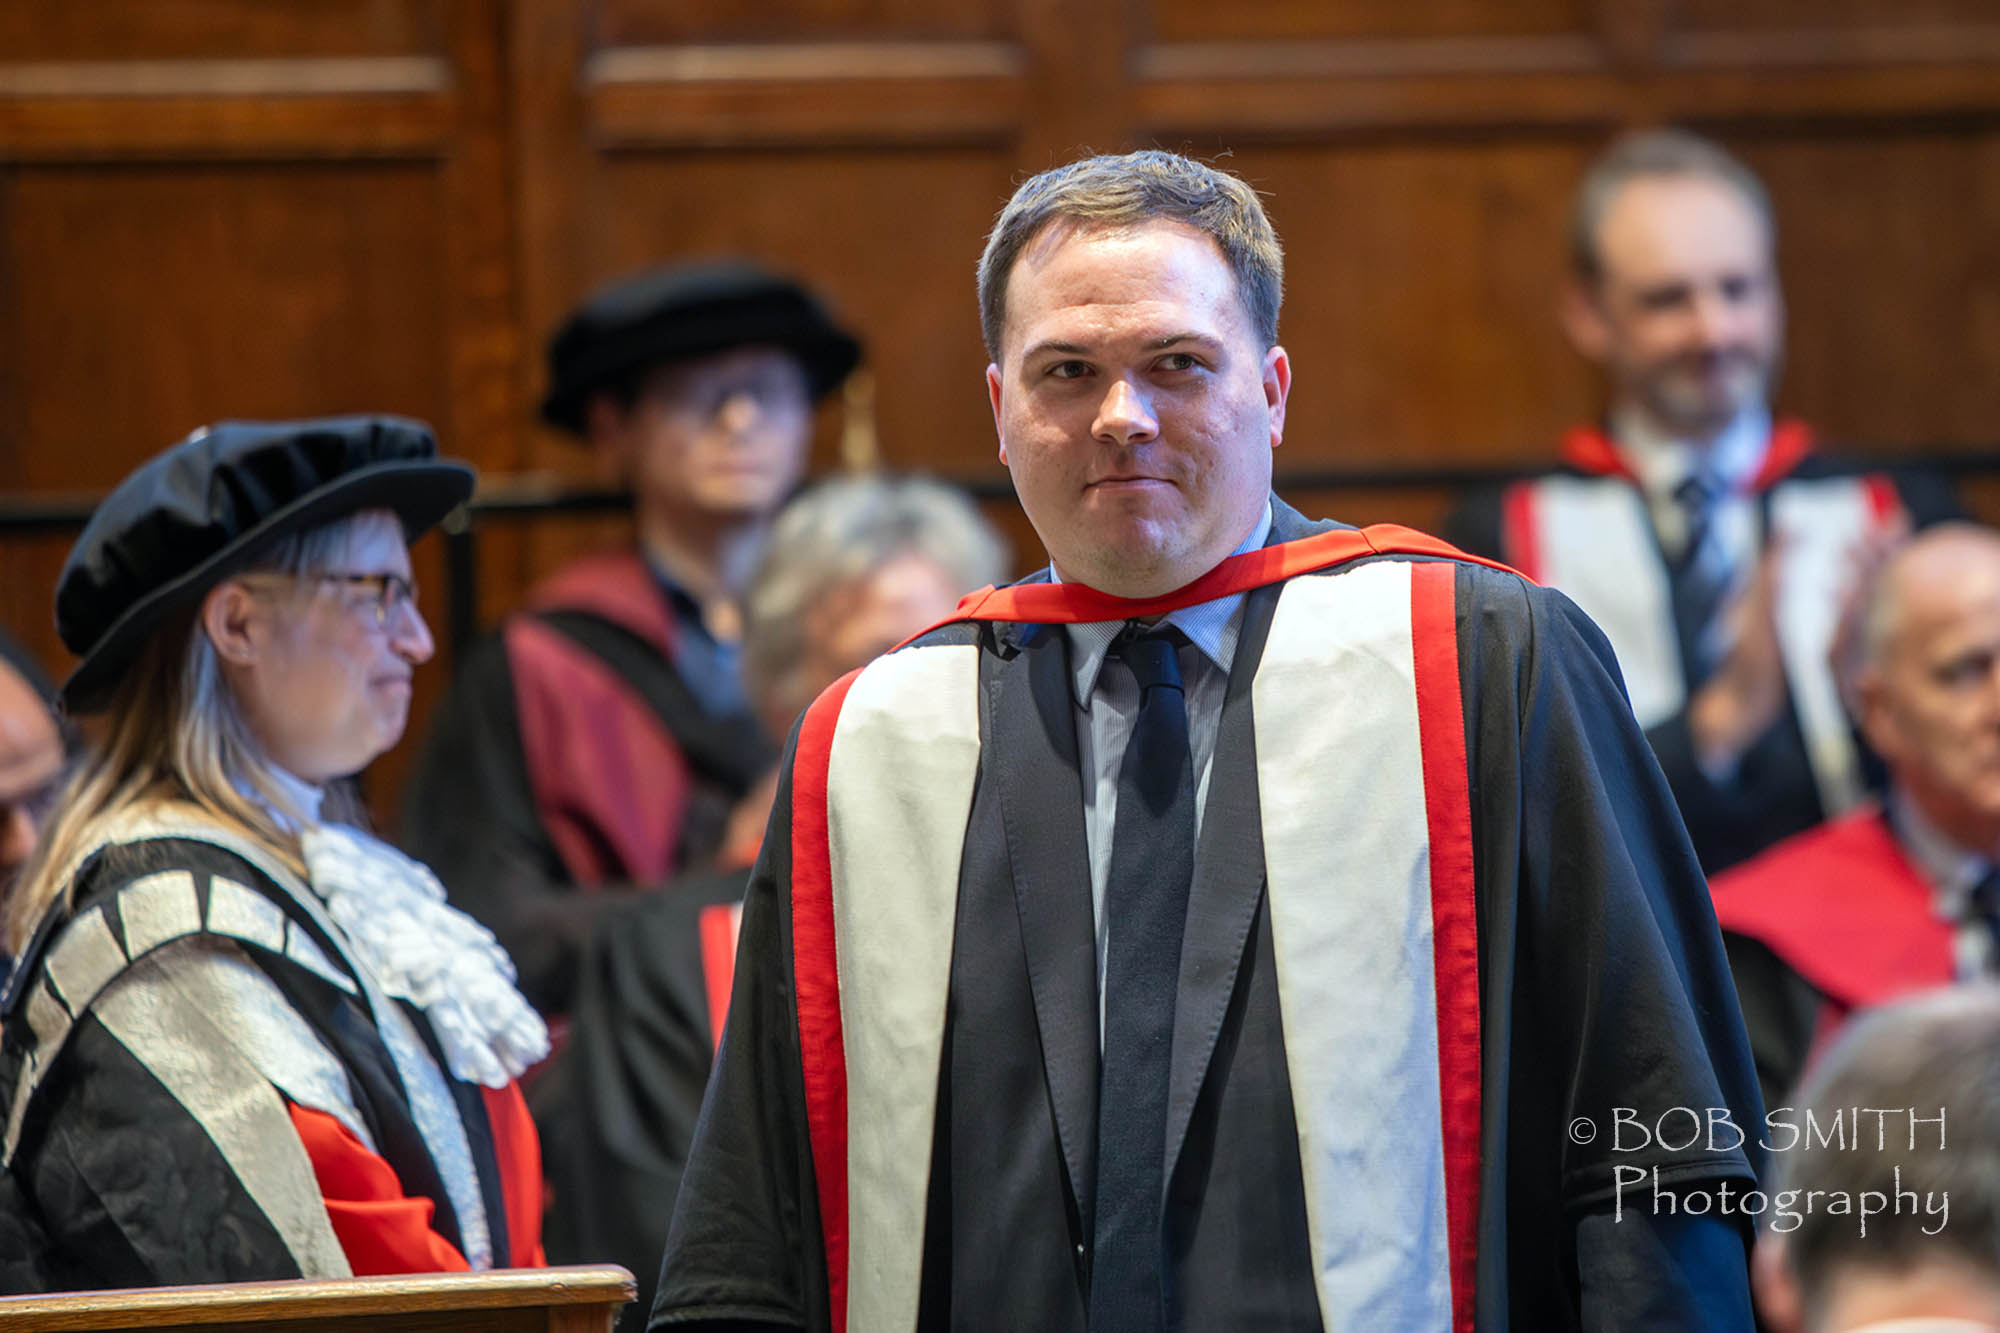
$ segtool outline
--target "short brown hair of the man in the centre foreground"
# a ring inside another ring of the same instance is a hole
[[[1236,292],[1250,314],[1250,326],[1266,348],[1278,342],[1284,248],[1256,190],[1194,158],[1150,148],[1056,166],[1014,190],[980,254],[980,334],[994,360],[1000,360],[1006,282],[1014,262],[1054,222],[1182,222],[1208,234],[1236,274]]]

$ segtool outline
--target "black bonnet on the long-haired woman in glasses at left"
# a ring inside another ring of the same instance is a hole
[[[62,707],[102,709],[144,642],[216,582],[294,532],[386,508],[418,536],[472,494],[402,416],[232,420],[156,454],[112,490],[56,580],[56,632],[84,658]]]

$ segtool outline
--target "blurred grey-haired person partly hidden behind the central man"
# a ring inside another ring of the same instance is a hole
[[[744,677],[772,735],[822,689],[1008,576],[1006,544],[934,480],[826,480],[784,508],[744,598]],[[606,907],[570,1041],[536,1075],[558,1263],[632,1269],[646,1321],[680,1169],[728,1011],[736,921],[776,775],[744,799],[726,867]]]

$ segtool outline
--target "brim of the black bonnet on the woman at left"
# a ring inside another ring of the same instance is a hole
[[[110,703],[120,679],[154,630],[176,612],[198,604],[208,588],[272,542],[370,508],[394,512],[402,520],[404,536],[416,540],[464,504],[472,496],[472,486],[474,472],[460,462],[398,458],[344,472],[272,510],[216,554],[132,602],[62,683],[64,713],[72,717],[96,713]]]

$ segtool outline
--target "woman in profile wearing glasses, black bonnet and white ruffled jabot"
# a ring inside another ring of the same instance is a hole
[[[0,1289],[538,1265],[512,965],[338,787],[432,652],[408,540],[472,492],[390,416],[228,422],[64,564],[102,747],[6,907]]]

